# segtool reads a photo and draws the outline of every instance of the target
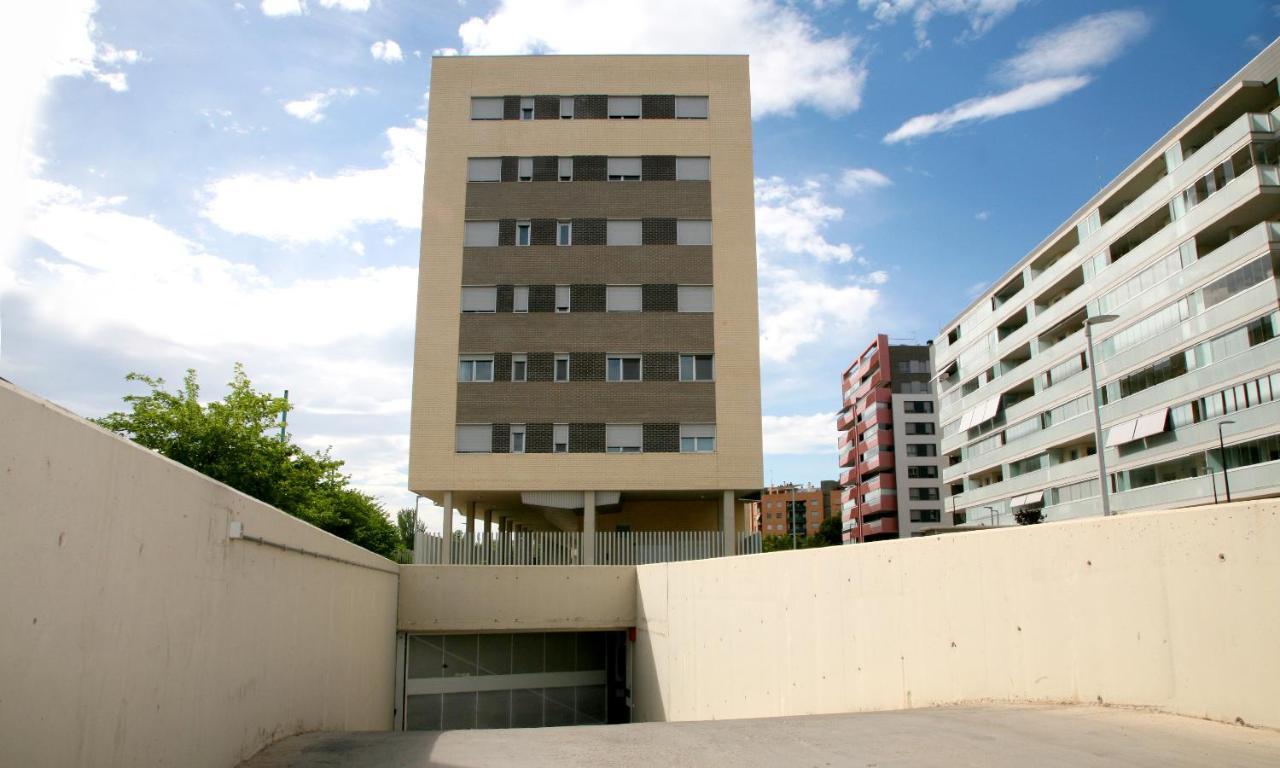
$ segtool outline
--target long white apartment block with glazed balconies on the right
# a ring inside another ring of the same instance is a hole
[[[1280,493],[1277,74],[1280,42],[934,340],[956,522],[1101,513],[1091,365],[1114,511]]]

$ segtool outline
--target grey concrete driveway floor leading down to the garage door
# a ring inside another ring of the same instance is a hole
[[[1280,732],[1105,707],[948,707],[504,731],[307,733],[241,768],[1280,765]]]

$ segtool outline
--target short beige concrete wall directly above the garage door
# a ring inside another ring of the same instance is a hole
[[[635,566],[401,566],[402,632],[613,630],[636,623]]]

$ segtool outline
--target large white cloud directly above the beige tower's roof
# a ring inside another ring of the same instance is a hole
[[[778,0],[500,0],[458,28],[465,54],[750,54],[755,116],[858,109],[858,40]]]

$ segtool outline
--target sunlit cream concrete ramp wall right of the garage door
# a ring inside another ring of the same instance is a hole
[[[1101,700],[1276,728],[1277,553],[1271,500],[640,566],[635,717]]]

